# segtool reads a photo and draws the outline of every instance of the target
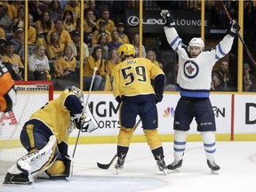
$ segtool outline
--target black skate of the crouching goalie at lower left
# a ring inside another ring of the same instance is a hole
[[[28,176],[23,173],[12,174],[10,172],[7,172],[3,184],[30,185],[32,183],[33,182],[28,179]]]

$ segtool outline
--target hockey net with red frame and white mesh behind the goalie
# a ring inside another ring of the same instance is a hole
[[[28,152],[20,143],[20,131],[29,117],[53,99],[52,82],[15,82],[17,99],[12,111],[0,114],[0,174],[6,173]]]

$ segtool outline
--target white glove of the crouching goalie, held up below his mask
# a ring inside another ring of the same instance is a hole
[[[85,113],[76,114],[72,117],[72,121],[75,122],[77,129],[81,129],[82,132],[93,132],[99,128],[94,116],[88,106],[85,108]]]

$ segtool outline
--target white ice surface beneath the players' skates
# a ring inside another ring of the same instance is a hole
[[[172,143],[164,145],[165,162],[171,164]],[[70,154],[73,146],[70,146]],[[219,175],[211,174],[202,142],[188,142],[180,172],[164,175],[158,171],[147,143],[131,143],[124,169],[117,175],[114,164],[101,170],[97,162],[108,164],[116,154],[116,144],[78,145],[71,180],[35,180],[31,186],[4,186],[0,191],[14,192],[253,192],[256,180],[256,142],[217,142],[216,163]]]

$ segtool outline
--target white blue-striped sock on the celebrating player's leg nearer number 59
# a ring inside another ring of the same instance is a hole
[[[173,156],[176,161],[180,161],[183,158],[186,148],[187,134],[188,132],[174,131]]]

